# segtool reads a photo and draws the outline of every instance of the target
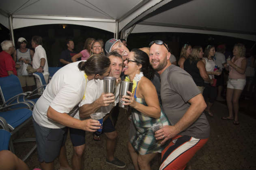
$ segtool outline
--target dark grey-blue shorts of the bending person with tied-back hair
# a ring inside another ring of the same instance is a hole
[[[68,128],[46,128],[33,119],[36,134],[39,162],[53,162],[60,154],[60,148],[65,145]]]

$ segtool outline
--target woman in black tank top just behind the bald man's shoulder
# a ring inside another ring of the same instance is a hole
[[[196,86],[202,93],[204,91],[204,80],[213,84],[213,80],[211,80],[207,74],[205,64],[201,61],[203,55],[202,47],[194,46],[191,55],[189,55],[188,59],[184,62],[184,70],[192,76]]]

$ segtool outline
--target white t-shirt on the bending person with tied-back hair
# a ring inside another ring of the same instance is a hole
[[[33,118],[40,126],[65,127],[47,117],[49,106],[60,113],[67,113],[71,117],[77,113],[78,104],[84,96],[86,83],[84,71],[80,71],[77,67],[80,62],[70,63],[59,69],[46,86],[33,109]]]

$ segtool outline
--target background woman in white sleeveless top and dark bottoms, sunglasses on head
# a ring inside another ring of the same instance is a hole
[[[205,64],[205,68],[207,71],[207,74],[209,75],[209,78],[212,80],[214,78],[214,75],[219,76],[222,72],[219,72],[218,69],[215,69],[215,61],[213,59],[215,55],[215,47],[208,45],[204,49],[204,57],[202,58],[202,62]],[[217,87],[216,86],[211,86],[209,81],[204,80],[204,100],[207,102],[207,108],[206,111],[207,113],[213,117],[213,114],[211,113],[211,107],[217,97]]]

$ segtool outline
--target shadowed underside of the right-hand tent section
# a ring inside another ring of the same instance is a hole
[[[131,33],[191,32],[256,41],[255,6],[255,0],[173,0],[140,19]]]

